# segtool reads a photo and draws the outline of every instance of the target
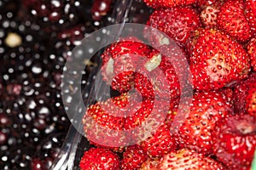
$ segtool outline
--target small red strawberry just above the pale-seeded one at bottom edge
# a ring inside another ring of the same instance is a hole
[[[176,149],[175,140],[170,133],[170,127],[169,124],[162,124],[152,137],[142,142],[143,150],[146,151],[149,157],[159,158]]]

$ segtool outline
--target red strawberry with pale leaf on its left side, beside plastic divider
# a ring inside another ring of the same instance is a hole
[[[113,43],[102,54],[102,77],[120,93],[133,86],[134,71],[151,49],[136,37],[126,37]]]

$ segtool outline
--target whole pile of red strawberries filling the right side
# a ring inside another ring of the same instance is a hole
[[[80,169],[252,169],[256,1],[144,2],[154,9],[147,25],[175,45],[145,30],[160,49],[122,37],[104,51],[102,78],[119,95],[84,114],[92,147]]]

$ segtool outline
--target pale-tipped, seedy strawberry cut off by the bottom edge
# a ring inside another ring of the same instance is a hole
[[[160,160],[160,170],[222,170],[224,169],[218,161],[203,156],[194,150],[172,151]]]

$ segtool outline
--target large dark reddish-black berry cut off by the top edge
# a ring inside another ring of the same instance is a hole
[[[23,0],[32,18],[48,31],[59,31],[89,20],[91,1]]]

